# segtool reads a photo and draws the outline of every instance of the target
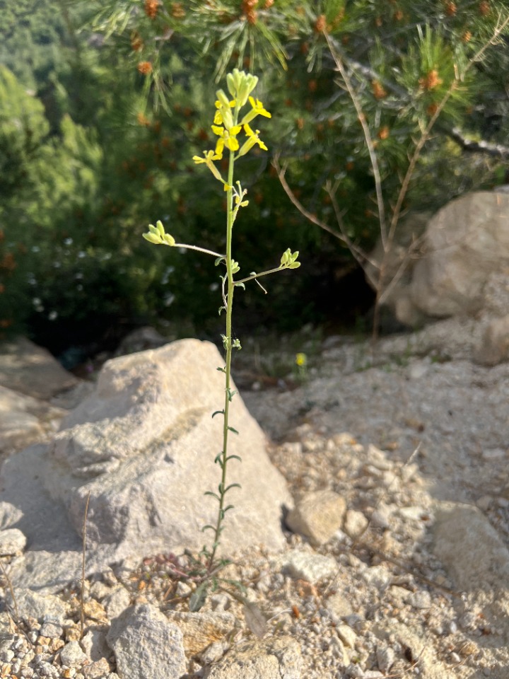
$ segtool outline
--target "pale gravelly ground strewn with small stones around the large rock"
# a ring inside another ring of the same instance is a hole
[[[291,342],[262,356],[247,344],[238,385],[296,499],[286,550],[240,551],[224,576],[246,591],[219,589],[199,613],[186,555],[96,576],[83,611],[78,581],[14,603],[5,557],[0,677],[137,679],[110,629],[137,603],[182,630],[185,674],[171,677],[507,679],[509,365],[472,363],[475,337],[473,321],[444,322],[375,355],[304,339],[302,384],[272,374],[291,371]],[[49,420],[33,411],[32,440],[66,403],[51,407]]]

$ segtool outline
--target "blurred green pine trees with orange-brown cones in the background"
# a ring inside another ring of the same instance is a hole
[[[238,298],[242,329],[351,324],[373,303],[343,240],[380,235],[373,166],[341,58],[368,124],[390,216],[409,156],[447,92],[405,197],[412,214],[505,181],[509,14],[474,0],[0,0],[0,332],[54,353],[111,346],[144,323],[218,334],[218,272],[206,257],[141,238],[162,219],[177,241],[218,250],[223,196],[192,163],[213,146],[211,106],[237,66],[260,77],[269,153],[244,164],[250,207],[235,226],[242,271],[300,250],[298,275]],[[461,80],[458,74],[464,74]],[[320,229],[288,199],[271,164]],[[329,187],[329,190],[325,190]],[[335,209],[339,209],[339,214]]]

